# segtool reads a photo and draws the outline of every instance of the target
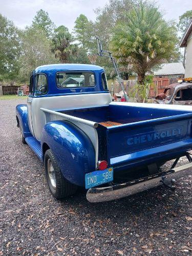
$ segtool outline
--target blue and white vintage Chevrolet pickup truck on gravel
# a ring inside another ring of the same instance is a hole
[[[90,202],[109,201],[163,184],[175,188],[176,177],[191,174],[191,107],[113,102],[105,72],[95,65],[36,68],[16,120],[57,199],[80,186]],[[176,167],[182,156],[189,163]]]

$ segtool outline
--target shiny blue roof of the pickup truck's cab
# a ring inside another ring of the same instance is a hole
[[[35,73],[56,73],[59,71],[103,71],[103,68],[89,64],[51,64],[37,67]]]

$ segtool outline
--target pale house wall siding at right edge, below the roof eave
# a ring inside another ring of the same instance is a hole
[[[192,77],[192,32],[187,39],[185,77]]]

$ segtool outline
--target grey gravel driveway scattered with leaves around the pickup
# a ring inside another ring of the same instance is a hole
[[[91,204],[80,190],[57,201],[44,166],[20,142],[15,106],[25,102],[0,100],[0,255],[191,255],[191,176],[174,192]]]

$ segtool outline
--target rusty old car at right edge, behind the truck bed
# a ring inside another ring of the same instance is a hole
[[[192,80],[192,78],[191,78]],[[169,84],[163,93],[155,97],[154,103],[158,104],[177,104],[191,105],[192,104],[192,82],[190,78],[178,80],[177,83]]]

